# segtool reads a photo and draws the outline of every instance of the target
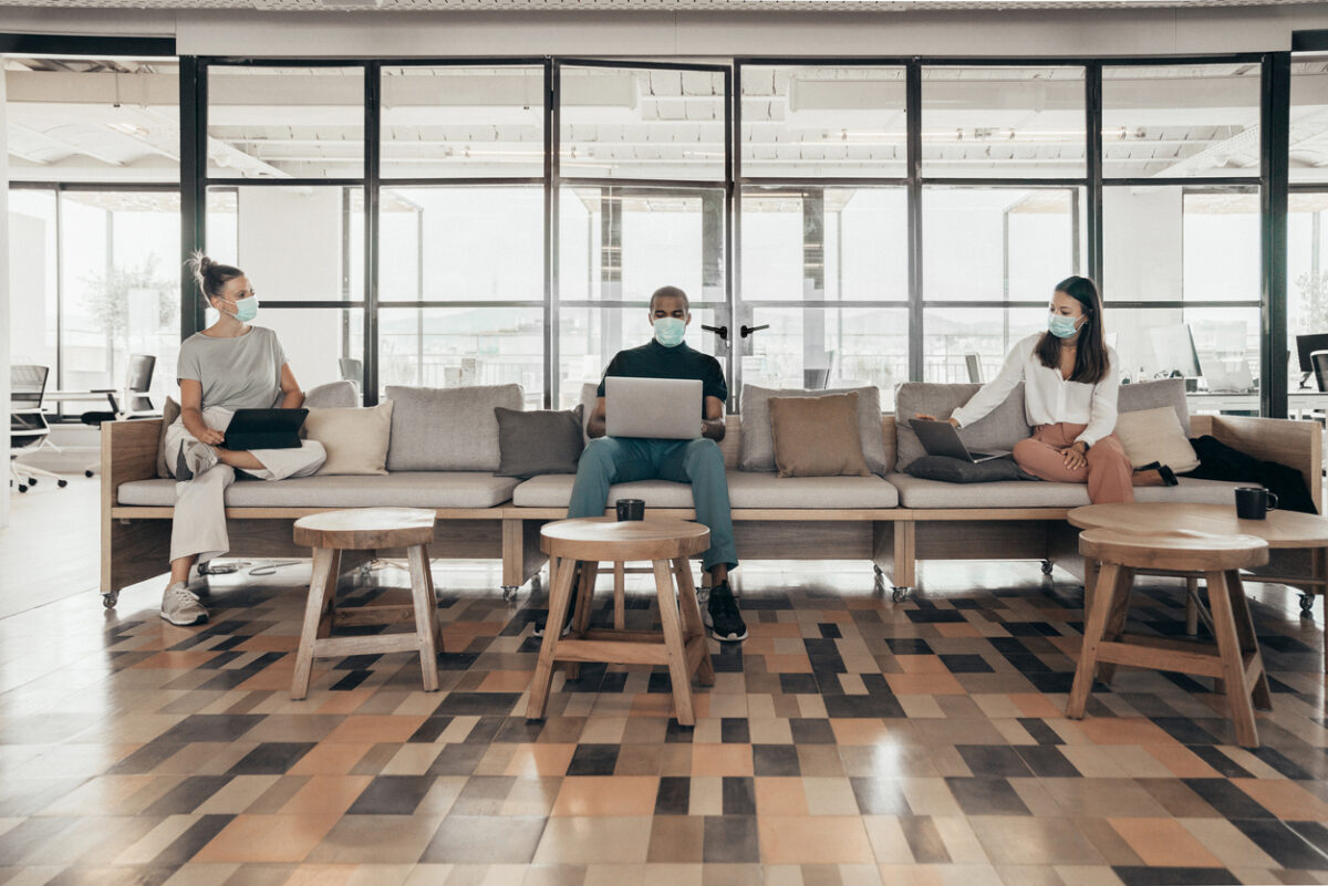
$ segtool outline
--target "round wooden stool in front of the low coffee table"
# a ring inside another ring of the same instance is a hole
[[[1199,674],[1226,684],[1236,741],[1246,748],[1259,747],[1250,696],[1252,692],[1254,704],[1260,710],[1271,710],[1272,698],[1239,570],[1267,564],[1268,542],[1254,536],[1089,529],[1080,536],[1080,553],[1101,562],[1102,569],[1065,706],[1066,716],[1084,716],[1100,663],[1104,683],[1112,682],[1117,664]],[[1203,576],[1216,650],[1207,643],[1123,633],[1135,570],[1186,578]]]

